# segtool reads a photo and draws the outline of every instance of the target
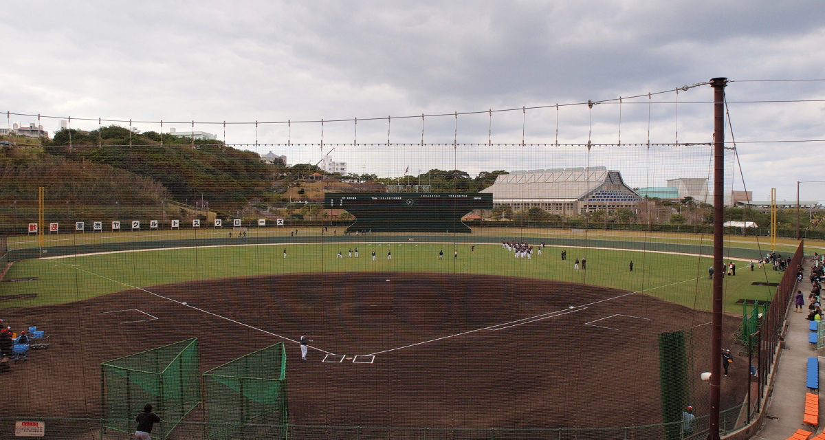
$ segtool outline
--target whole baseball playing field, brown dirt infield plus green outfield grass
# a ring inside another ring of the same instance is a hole
[[[290,423],[298,424],[660,423],[657,335],[689,332],[691,373],[709,370],[708,257],[558,244],[539,255],[542,237],[529,236],[518,239],[534,245],[531,258],[515,258],[501,236],[483,237],[275,244],[249,234],[208,246],[76,246],[17,261],[0,283],[2,318],[46,329],[51,344],[13,366],[12,376],[25,378],[15,381],[22,398],[5,408],[101,417],[101,362],[191,337],[202,371],[285,342]],[[577,258],[585,269],[574,268]],[[778,282],[782,272],[731,261],[724,344],[735,352],[738,301],[770,298],[773,287],[753,283]],[[314,340],[309,362],[299,357],[304,333]],[[724,378],[723,408],[742,402],[746,364]],[[690,382],[705,414],[708,387],[698,372]]]

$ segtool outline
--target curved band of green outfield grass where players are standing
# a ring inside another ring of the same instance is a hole
[[[370,239],[379,239],[370,237]],[[347,257],[356,246],[360,258]],[[287,258],[283,258],[283,249]],[[469,244],[458,244],[459,258],[453,259],[452,243],[361,243],[361,244],[266,244],[179,248],[142,252],[80,255],[68,258],[29,259],[14,263],[6,278],[39,277],[38,281],[2,282],[0,296],[36,294],[36,298],[2,300],[0,308],[50,305],[85,300],[122,291],[132,286],[156,286],[221,277],[243,277],[290,272],[443,272],[486,273],[509,277],[533,277],[580,282],[643,291],[681,305],[709,310],[710,258],[671,253],[566,248],[568,260],[559,257],[561,248],[544,248],[543,255],[514,258],[500,244],[479,244],[470,252]],[[393,260],[387,260],[388,249]],[[439,260],[438,251],[444,250]],[[371,252],[375,250],[376,261]],[[336,258],[342,251],[342,258]],[[587,258],[587,270],[574,270],[576,258]],[[629,261],[634,272],[629,272]],[[725,278],[725,310],[740,313],[741,298],[765,300],[773,287],[752,286],[752,282],[779,282],[782,272],[747,270],[737,262],[736,277]],[[768,269],[768,267],[766,267]],[[323,275],[318,276],[323,282]],[[447,286],[446,286],[447,287]],[[231,292],[216,292],[224,295]]]

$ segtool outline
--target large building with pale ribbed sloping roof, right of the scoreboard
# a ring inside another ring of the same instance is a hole
[[[511,206],[513,211],[539,207],[559,215],[618,208],[636,212],[643,201],[618,171],[605,167],[512,171],[480,192],[493,193],[493,206]]]

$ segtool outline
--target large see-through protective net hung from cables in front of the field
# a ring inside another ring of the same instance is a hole
[[[163,142],[134,145],[75,134],[71,146],[27,152],[39,168],[9,161],[7,175],[45,187],[44,220],[31,188],[0,206],[12,234],[0,263],[14,262],[0,306],[12,325],[36,324],[55,343],[32,355],[33,379],[19,389],[20,402],[40,404],[14,402],[9,414],[114,419],[106,426],[119,434],[153,403],[158,433],[184,419],[178,426],[210,438],[673,438],[692,405],[700,433],[710,117],[674,121],[661,98],[393,120],[391,135],[390,121],[358,121],[356,140],[352,121],[328,122],[318,144],[308,124],[302,134],[294,125],[293,142],[268,132],[272,144],[257,152],[158,133]],[[695,135],[674,142],[672,129],[686,125]],[[313,165],[330,148],[349,173]],[[257,153],[267,150],[295,165],[264,165]],[[726,182],[725,220],[742,219],[733,190],[744,188]],[[492,206],[464,203],[476,196]],[[369,198],[364,210],[354,197]],[[723,343],[740,355],[723,384],[725,429],[747,422],[742,334],[771,330],[751,347],[767,378],[784,319],[780,308],[749,308],[783,276],[746,268],[766,253],[755,234],[770,225],[759,223],[726,229],[737,235],[725,263],[739,272],[724,278]],[[785,257],[798,245],[779,241]],[[740,300],[744,322],[733,315]],[[314,339],[306,361],[304,333]],[[192,337],[197,348],[120,357],[146,340]],[[58,363],[68,356],[81,362]],[[82,366],[113,357],[101,393]],[[54,365],[73,375],[62,388],[42,385]],[[199,368],[200,407],[189,394]]]

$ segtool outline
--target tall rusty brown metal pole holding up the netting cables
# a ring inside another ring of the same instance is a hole
[[[724,273],[724,88],[728,78],[713,78],[714,88],[714,273]],[[710,414],[708,440],[719,440],[719,396],[722,385],[723,277],[714,277],[713,337],[710,343]]]

